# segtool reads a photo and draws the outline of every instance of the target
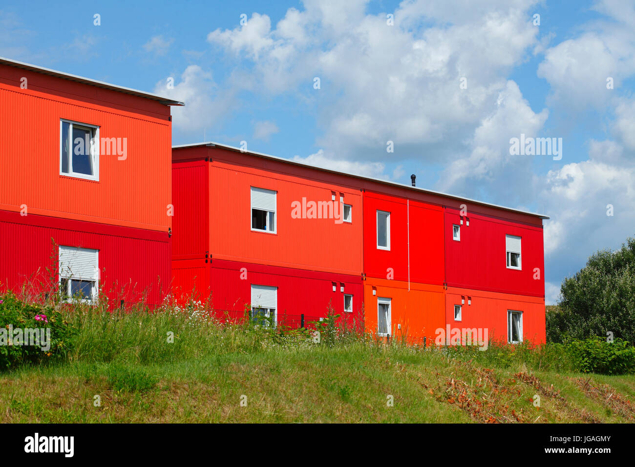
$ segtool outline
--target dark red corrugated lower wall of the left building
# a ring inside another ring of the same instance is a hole
[[[159,304],[168,290],[167,234],[7,211],[0,211],[2,287],[29,283],[34,294],[50,292],[57,285],[58,245],[99,250],[100,286],[113,304],[144,297]]]

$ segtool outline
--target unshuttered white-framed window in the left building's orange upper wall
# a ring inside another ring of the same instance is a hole
[[[60,121],[60,175],[99,180],[99,127]]]

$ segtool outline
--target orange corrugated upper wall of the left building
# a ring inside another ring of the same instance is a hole
[[[20,88],[20,78],[28,88]],[[168,231],[170,107],[0,65],[0,209]],[[60,175],[60,119],[127,138],[127,158],[100,154],[99,181]]]

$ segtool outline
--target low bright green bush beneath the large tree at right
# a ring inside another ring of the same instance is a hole
[[[635,372],[635,347],[623,339],[616,338],[613,342],[602,337],[576,339],[567,344],[567,349],[582,372],[609,375]]]

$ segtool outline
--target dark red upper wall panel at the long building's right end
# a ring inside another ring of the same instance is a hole
[[[460,241],[452,240],[452,225],[460,225],[460,211],[445,210],[446,281],[449,287],[474,288],[505,294],[544,297],[542,226],[511,222],[500,217],[467,213]],[[508,269],[505,235],[521,237],[522,270]],[[535,271],[535,269],[538,271]],[[534,276],[540,278],[534,278]]]

